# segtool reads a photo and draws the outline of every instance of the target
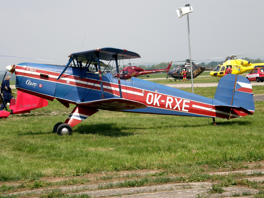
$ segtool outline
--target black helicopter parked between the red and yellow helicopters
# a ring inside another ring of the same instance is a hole
[[[171,70],[169,70],[169,72],[167,73],[167,79],[169,77],[174,78],[173,80],[176,81],[177,79],[179,79],[179,81],[181,81],[181,79],[183,79],[183,76],[181,75],[183,69],[185,69],[187,71],[187,76],[186,78],[189,80],[191,79],[191,65],[190,65],[190,59],[186,59],[185,60],[186,63],[184,65],[180,65],[178,67],[175,67]],[[197,76],[199,76],[202,72],[206,71],[206,70],[213,70],[214,68],[210,68],[210,67],[204,67],[202,65],[197,65],[194,64],[194,62],[192,62],[192,78],[196,78]]]

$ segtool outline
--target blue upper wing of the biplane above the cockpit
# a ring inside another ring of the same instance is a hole
[[[87,62],[87,60],[94,59],[97,52],[99,52],[100,59],[107,61],[112,60],[113,55],[117,55],[117,59],[141,58],[139,54],[133,51],[117,48],[98,48],[90,51],[72,53],[71,55],[69,55],[69,58],[77,56],[80,61]]]

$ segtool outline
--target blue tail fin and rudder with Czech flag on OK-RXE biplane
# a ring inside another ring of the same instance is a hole
[[[249,80],[236,74],[227,74],[218,83],[215,100],[228,106],[242,107],[250,112],[255,111],[252,86]]]

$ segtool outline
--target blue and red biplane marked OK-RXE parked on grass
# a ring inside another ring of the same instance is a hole
[[[64,66],[20,63],[7,66],[16,74],[16,88],[31,95],[76,105],[64,123],[54,126],[60,135],[70,135],[72,127],[98,109],[144,114],[236,118],[253,114],[252,86],[243,76],[228,74],[220,79],[214,99],[132,77],[120,80],[119,59],[140,58],[132,51],[99,48],[69,55]],[[109,71],[116,64],[117,76]],[[109,63],[110,63],[109,62]],[[99,63],[99,64],[98,64]],[[93,72],[92,70],[95,69]]]

